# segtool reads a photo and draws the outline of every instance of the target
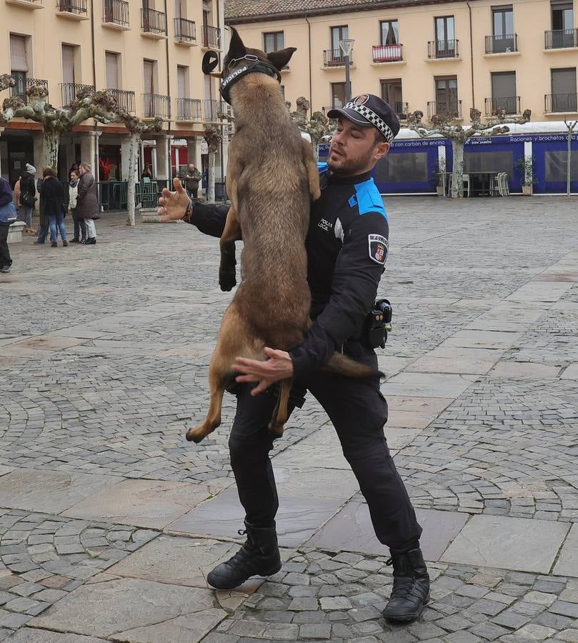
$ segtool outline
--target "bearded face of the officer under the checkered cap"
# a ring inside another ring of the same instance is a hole
[[[377,129],[362,127],[340,118],[329,150],[329,169],[334,174],[354,176],[367,172],[387,154],[389,143],[377,139]]]

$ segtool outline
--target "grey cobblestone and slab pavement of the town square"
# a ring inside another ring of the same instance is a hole
[[[284,567],[206,572],[242,514],[227,427],[184,432],[230,300],[186,224],[99,221],[96,246],[11,246],[0,276],[0,640],[578,642],[577,199],[387,199],[386,435],[432,597],[381,617],[387,550],[322,409],[276,442]]]

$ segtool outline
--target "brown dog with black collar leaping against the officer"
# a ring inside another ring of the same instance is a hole
[[[264,54],[246,49],[231,28],[223,76],[243,71],[247,61],[257,60],[281,71],[294,51],[289,47]],[[194,442],[221,424],[224,389],[234,377],[235,358],[264,359],[266,346],[287,350],[302,342],[311,323],[305,238],[311,199],[321,194],[319,172],[312,146],[292,122],[273,76],[274,70],[273,75],[255,71],[239,76],[230,87],[235,135],[229,145],[226,189],[232,206],[221,236],[219,284],[222,290],[236,284],[235,241],[241,239],[242,281],[225,311],[211,358],[209,412],[202,424],[186,433],[186,439]],[[342,354],[335,354],[329,367],[352,377],[377,374]],[[288,417],[291,385],[291,379],[281,382],[269,424],[276,435],[283,433]]]

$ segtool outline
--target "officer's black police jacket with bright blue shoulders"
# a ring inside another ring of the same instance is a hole
[[[387,213],[369,173],[340,178],[326,164],[319,170],[322,196],[312,204],[306,240],[314,324],[304,342],[289,350],[297,379],[327,364],[348,340],[362,341],[388,251]],[[221,236],[228,209],[195,204],[191,223]]]

